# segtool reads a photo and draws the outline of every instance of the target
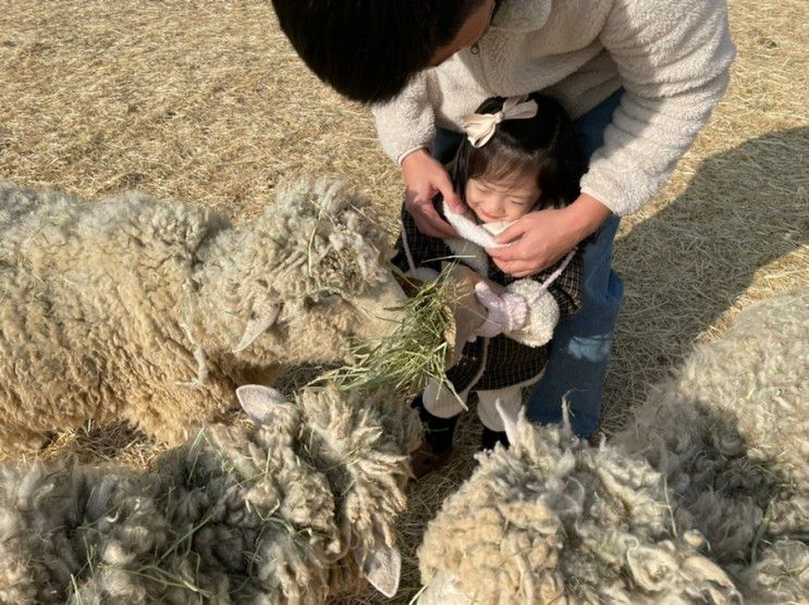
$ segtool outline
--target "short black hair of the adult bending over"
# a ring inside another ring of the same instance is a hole
[[[395,97],[485,0],[272,0],[317,76],[350,99]]]

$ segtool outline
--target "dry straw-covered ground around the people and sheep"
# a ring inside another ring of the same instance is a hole
[[[806,5],[731,0],[731,20],[739,57],[725,101],[620,233],[606,432],[695,339],[809,282]],[[308,74],[268,2],[0,0],[0,83],[1,177],[90,198],[139,187],[241,221],[284,178],[338,173],[395,231],[401,181],[368,112]],[[403,603],[418,590],[424,526],[469,473],[478,430],[465,419],[457,461],[410,490]],[[60,435],[46,455],[70,452],[142,466],[156,454],[122,427]]]

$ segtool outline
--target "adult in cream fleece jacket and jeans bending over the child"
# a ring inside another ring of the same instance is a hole
[[[309,67],[375,103],[379,139],[402,165],[406,208],[427,235],[452,237],[432,205],[461,209],[442,166],[462,120],[488,97],[531,91],[574,118],[589,169],[563,209],[526,214],[487,252],[515,277],[583,245],[584,304],[560,324],[529,403],[541,422],[567,397],[579,435],[596,430],[623,285],[611,269],[620,217],[662,186],[708,121],[734,47],[724,0],[272,0]]]

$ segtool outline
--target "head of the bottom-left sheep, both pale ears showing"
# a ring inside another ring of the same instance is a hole
[[[392,596],[401,568],[393,527],[406,504],[407,454],[419,442],[415,411],[401,400],[333,386],[306,388],[296,405],[266,386],[241,386],[236,394],[250,418],[268,431],[283,431],[283,419],[291,413],[301,418],[296,453],[330,485],[343,543],[333,560],[332,592],[357,589],[361,570]]]

